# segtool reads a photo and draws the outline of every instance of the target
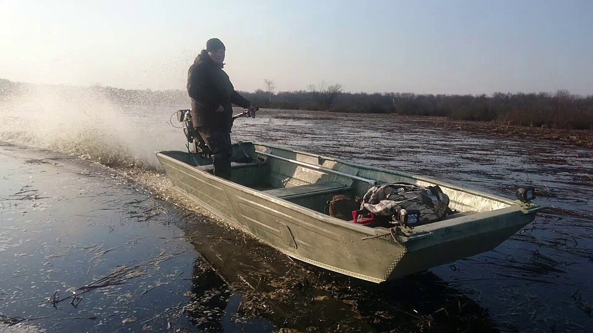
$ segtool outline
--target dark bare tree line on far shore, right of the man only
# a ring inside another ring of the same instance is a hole
[[[566,90],[529,94],[495,92],[492,95],[432,95],[398,92],[367,94],[342,92],[340,85],[329,87],[329,91],[326,86],[322,94],[318,92],[320,89],[312,91],[311,87],[307,91],[278,92],[271,97],[269,92],[262,89],[242,94],[254,104],[268,108],[397,113],[495,121],[517,126],[593,129],[593,95],[583,97]],[[334,94],[336,88],[339,89]]]

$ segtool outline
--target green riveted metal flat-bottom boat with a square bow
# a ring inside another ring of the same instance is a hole
[[[495,248],[541,210],[537,204],[466,190],[388,169],[271,145],[232,146],[230,181],[210,159],[157,152],[176,190],[292,258],[380,283]],[[409,229],[359,224],[324,213],[337,194],[362,197],[375,184],[439,185],[455,213]],[[525,200],[524,200],[525,201]]]

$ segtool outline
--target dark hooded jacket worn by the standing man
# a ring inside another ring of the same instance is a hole
[[[194,127],[217,132],[231,132],[232,106],[248,108],[251,104],[232,86],[224,65],[214,62],[206,50],[202,50],[187,72],[187,94],[192,98],[192,121]],[[222,112],[216,112],[219,106]]]

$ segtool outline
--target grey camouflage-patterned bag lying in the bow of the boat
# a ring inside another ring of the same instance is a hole
[[[449,197],[438,185],[422,187],[406,182],[377,185],[362,198],[362,207],[375,215],[396,217],[402,209],[419,210],[420,223],[442,220],[449,209]]]

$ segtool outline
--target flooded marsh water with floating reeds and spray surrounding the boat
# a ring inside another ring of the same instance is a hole
[[[262,110],[235,121],[234,142],[287,146],[509,198],[520,185],[537,187],[536,201],[547,208],[495,250],[377,285],[293,261],[178,196],[153,152],[186,149],[181,130],[167,123],[185,105],[51,102],[0,108],[4,327],[593,331],[586,133],[544,140],[539,132],[489,132],[473,123],[310,111]]]

